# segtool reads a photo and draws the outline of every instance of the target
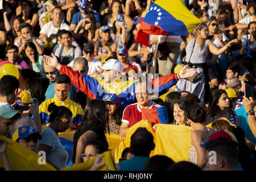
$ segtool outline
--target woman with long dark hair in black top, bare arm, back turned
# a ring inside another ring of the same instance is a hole
[[[84,110],[84,121],[74,135],[74,145],[72,150],[72,162],[81,163],[81,154],[85,150],[86,144],[93,140],[101,140],[108,146],[105,133],[109,129],[108,108],[102,100],[91,100]],[[109,130],[108,130],[109,131]]]

